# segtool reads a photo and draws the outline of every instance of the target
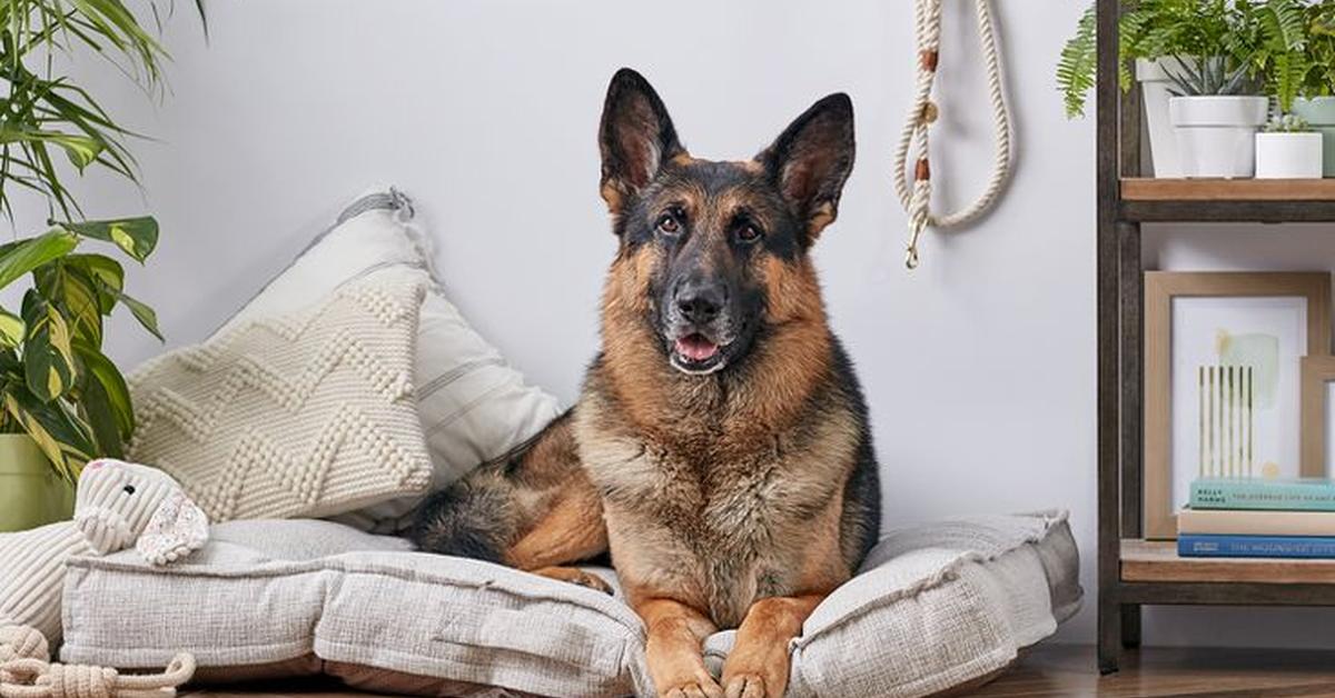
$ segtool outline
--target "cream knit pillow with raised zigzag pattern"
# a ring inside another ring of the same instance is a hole
[[[423,492],[413,359],[426,284],[422,272],[372,274],[150,360],[129,376],[129,458],[175,476],[214,522]]]

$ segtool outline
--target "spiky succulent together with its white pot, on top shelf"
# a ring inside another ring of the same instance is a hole
[[[1165,69],[1172,80],[1168,120],[1177,136],[1177,157],[1187,178],[1251,178],[1256,171],[1256,131],[1270,100],[1243,93],[1247,65],[1224,57],[1181,61]]]

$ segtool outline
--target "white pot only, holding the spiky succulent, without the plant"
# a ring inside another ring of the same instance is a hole
[[[1168,119],[1187,178],[1250,178],[1256,172],[1256,131],[1266,123],[1266,97],[1202,95],[1171,97]]]

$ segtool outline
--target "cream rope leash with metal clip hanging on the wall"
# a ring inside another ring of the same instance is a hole
[[[992,24],[991,0],[975,0],[979,19],[979,44],[988,73],[988,97],[992,101],[992,125],[996,135],[996,160],[987,188],[968,208],[953,214],[932,214],[932,165],[928,151],[928,129],[936,121],[937,107],[932,101],[932,85],[941,49],[941,0],[914,0],[913,19],[917,37],[918,68],[913,107],[909,109],[894,149],[894,191],[909,215],[909,242],[904,264],[918,266],[918,239],[928,227],[952,228],[979,218],[996,203],[1011,178],[1011,115],[1001,91],[1001,59],[997,55],[996,31]],[[908,180],[909,149],[917,155],[913,182]]]

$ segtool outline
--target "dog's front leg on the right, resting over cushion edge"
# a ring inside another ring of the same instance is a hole
[[[724,662],[726,698],[782,698],[788,689],[788,641],[825,594],[770,597],[752,603]]]

